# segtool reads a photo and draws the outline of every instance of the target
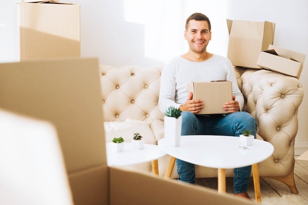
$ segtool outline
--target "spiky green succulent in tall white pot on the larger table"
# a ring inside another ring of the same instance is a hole
[[[179,108],[168,107],[164,112],[165,138],[169,146],[178,147],[182,131],[182,111]]]

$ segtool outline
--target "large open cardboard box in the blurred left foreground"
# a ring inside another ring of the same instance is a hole
[[[61,147],[61,149],[58,149],[58,153],[61,152],[61,156],[63,156],[62,164],[63,167],[65,165],[65,168],[62,170],[65,170],[64,176],[68,179],[66,185],[69,189],[68,192],[61,193],[67,193],[66,198],[72,198],[72,202],[59,200],[62,201],[62,204],[254,204],[231,194],[218,194],[216,190],[179,183],[174,179],[163,179],[148,173],[137,173],[116,167],[108,167],[97,59],[62,59],[0,64],[0,96],[1,109],[28,116],[28,118],[31,116],[31,118],[34,117],[54,126],[56,130],[54,133],[57,133],[54,136],[58,136],[56,141],[59,144],[41,144],[41,152],[51,149],[52,146],[56,150],[57,145]],[[1,115],[3,115],[3,112],[0,112]],[[24,127],[18,126],[14,121],[11,122],[16,129],[24,130],[22,129]],[[42,124],[41,122],[37,123]],[[44,124],[46,125],[46,123]],[[3,125],[0,124],[2,127]],[[52,126],[49,126],[49,128]],[[29,127],[29,129],[25,129],[25,132],[20,132],[15,137],[25,138],[27,137],[27,132],[31,131],[33,130]],[[0,136],[2,137],[0,139],[5,138],[5,135]],[[40,137],[45,137],[45,135],[40,135]],[[37,147],[36,143],[39,142],[32,141],[32,143]],[[16,143],[13,142],[12,144],[15,146]],[[6,145],[6,148],[9,151],[10,147],[8,146],[9,144]],[[32,151],[28,147],[25,147],[24,150]],[[27,159],[30,160],[30,158]],[[47,158],[46,161],[54,164],[58,163],[48,161]],[[61,164],[61,161],[59,164]],[[40,165],[33,164],[33,167]],[[16,173],[16,177],[25,174],[22,168],[17,170],[12,170],[11,168],[10,166],[3,167],[0,165],[1,173],[3,173],[3,170],[4,172]],[[46,178],[54,177],[52,175],[44,176]],[[37,181],[35,176],[31,177],[33,179],[29,179],[30,181]],[[0,200],[7,199],[7,197],[12,197],[9,198],[12,200],[11,202],[16,197],[29,200],[31,203],[38,199],[44,200],[43,196],[35,194],[35,191],[33,192],[34,194],[24,197],[24,192],[19,193],[15,192],[16,189],[5,189],[21,187],[21,182],[18,180],[14,181],[16,183],[13,184],[12,181],[5,181],[1,177],[0,180],[0,195],[7,195],[4,198],[0,196]],[[7,183],[3,183],[3,181]],[[65,186],[65,181],[62,185]],[[49,186],[49,184],[46,184],[46,186]],[[31,188],[33,190],[42,190],[46,187]],[[6,190],[6,192],[3,190]],[[24,190],[29,191],[25,193],[30,193],[32,189],[26,186]],[[9,194],[8,191],[10,191]],[[58,196],[56,192],[48,192],[47,194],[51,195],[51,197]],[[23,202],[25,203],[26,201]],[[10,205],[7,201],[0,202],[0,204]],[[46,202],[46,204],[48,203]]]

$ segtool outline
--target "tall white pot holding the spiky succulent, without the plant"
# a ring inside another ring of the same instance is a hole
[[[164,117],[165,139],[168,146],[180,146],[181,132],[182,132],[182,116],[178,119],[174,117]]]

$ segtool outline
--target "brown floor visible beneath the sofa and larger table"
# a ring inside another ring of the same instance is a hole
[[[294,179],[299,194],[307,201],[308,205],[308,161],[296,160],[294,166]],[[233,193],[233,178],[226,179],[226,192]],[[217,178],[199,178],[196,183],[209,188],[217,189]],[[260,178],[261,199],[266,197],[281,197],[292,194],[284,183],[274,180]],[[248,194],[254,201],[253,179],[251,178]]]

